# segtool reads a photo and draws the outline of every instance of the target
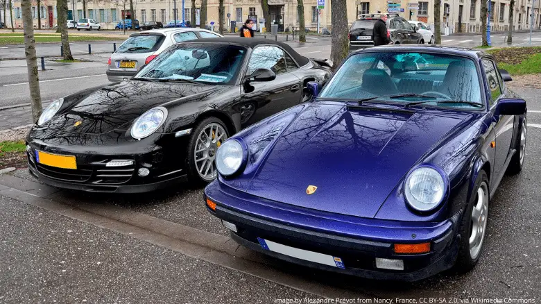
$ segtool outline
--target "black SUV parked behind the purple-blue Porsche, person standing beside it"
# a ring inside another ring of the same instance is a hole
[[[350,50],[361,49],[374,45],[372,29],[381,14],[362,15],[361,19],[353,22],[350,33]],[[387,14],[387,37],[394,44],[423,44],[420,33],[404,18],[396,14]]]

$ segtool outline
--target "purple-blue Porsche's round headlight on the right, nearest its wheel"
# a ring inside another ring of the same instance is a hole
[[[415,169],[404,184],[406,201],[415,210],[429,211],[438,207],[445,196],[445,181],[436,169],[420,167]]]

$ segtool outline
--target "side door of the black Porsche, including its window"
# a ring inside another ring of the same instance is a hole
[[[300,103],[302,82],[287,71],[286,57],[282,49],[264,45],[256,47],[250,56],[246,75],[256,69],[271,69],[273,81],[246,82],[241,87],[241,126],[244,128],[265,117]]]

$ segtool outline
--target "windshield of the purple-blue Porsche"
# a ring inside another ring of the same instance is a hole
[[[474,61],[441,53],[356,54],[344,62],[318,98],[411,104],[421,101],[422,105],[438,107],[483,108]]]

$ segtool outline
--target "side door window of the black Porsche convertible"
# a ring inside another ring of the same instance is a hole
[[[248,62],[248,74],[256,69],[271,69],[276,75],[286,73],[284,51],[277,47],[258,47]]]

